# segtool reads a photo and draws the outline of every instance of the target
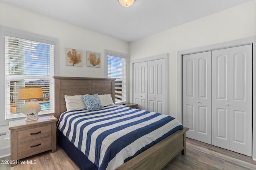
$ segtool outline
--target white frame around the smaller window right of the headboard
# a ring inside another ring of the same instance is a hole
[[[108,55],[113,56],[113,57],[119,57],[122,59],[126,59],[126,99],[125,101],[122,102],[114,102],[116,104],[122,104],[122,103],[126,103],[128,101],[128,84],[129,84],[129,57],[127,54],[124,53],[119,53],[116,51],[110,51],[110,50],[106,50],[105,49],[105,77],[108,78]],[[118,81],[118,80],[117,80]]]

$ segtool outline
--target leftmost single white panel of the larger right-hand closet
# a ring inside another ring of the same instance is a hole
[[[186,136],[196,139],[196,54],[182,57],[182,124]]]

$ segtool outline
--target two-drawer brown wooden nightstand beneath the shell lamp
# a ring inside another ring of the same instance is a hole
[[[56,122],[54,116],[38,117],[34,121],[9,122],[11,131],[11,160],[16,161],[46,150],[56,151]]]

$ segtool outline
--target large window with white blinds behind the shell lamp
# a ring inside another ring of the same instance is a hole
[[[24,117],[21,108],[28,101],[17,100],[20,87],[41,86],[44,98],[36,100],[41,105],[38,115],[54,113],[54,45],[11,36],[4,38],[6,119]]]

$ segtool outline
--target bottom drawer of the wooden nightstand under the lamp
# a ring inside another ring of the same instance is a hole
[[[18,144],[17,156],[22,156],[38,150],[43,150],[52,147],[52,136],[45,137],[42,139],[36,139],[26,143]]]

